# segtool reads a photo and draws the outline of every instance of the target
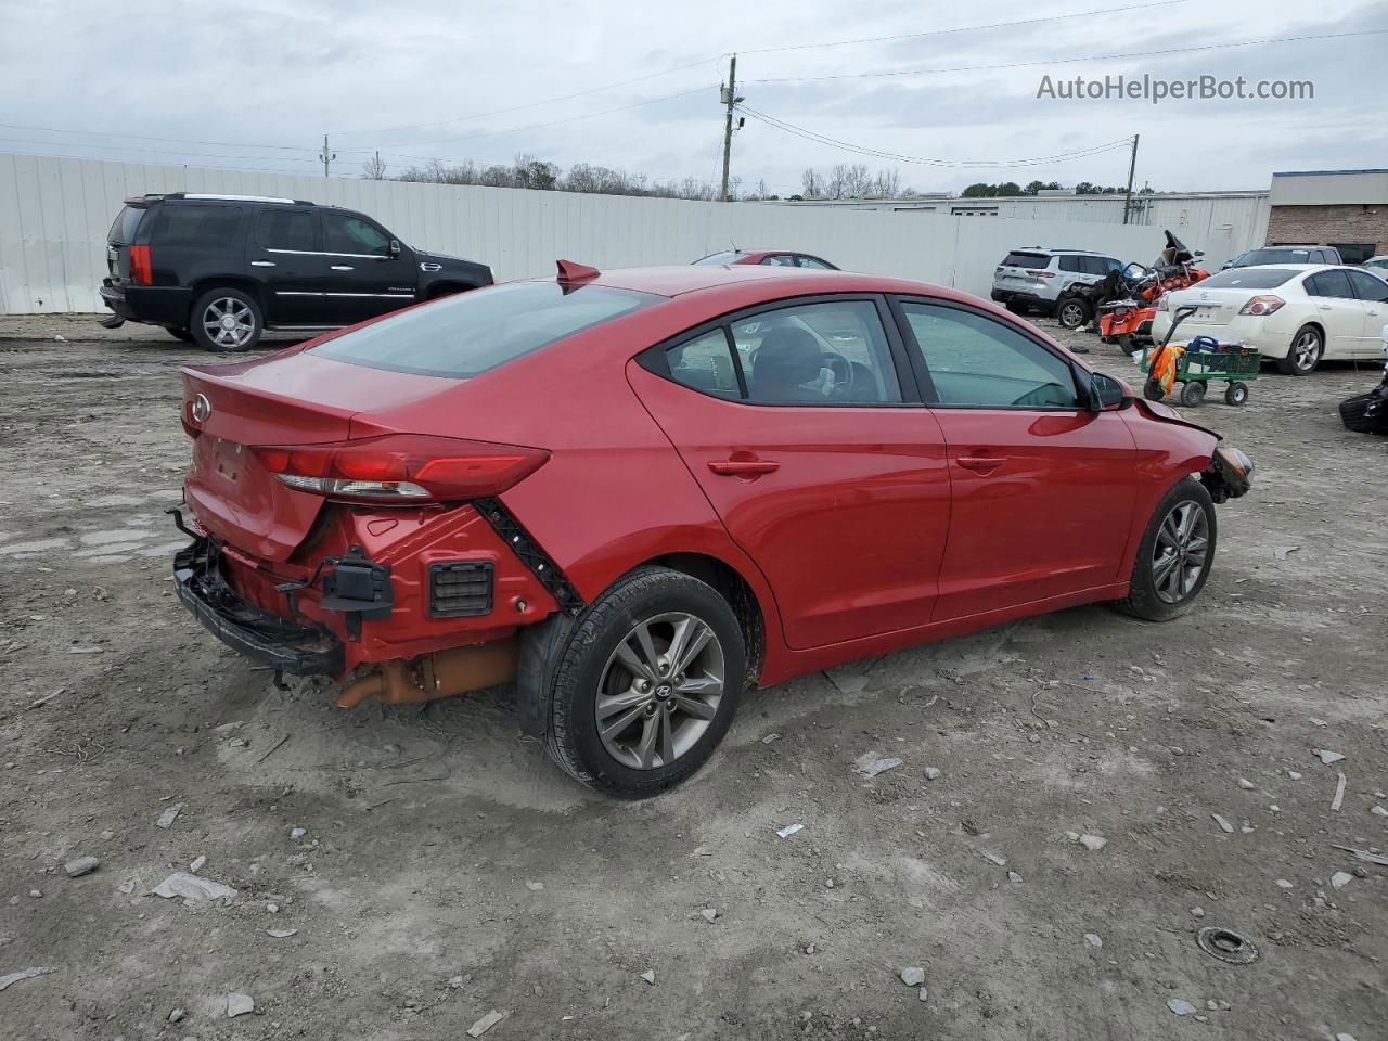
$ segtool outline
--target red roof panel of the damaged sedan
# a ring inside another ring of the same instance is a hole
[[[547,279],[530,279],[544,282]],[[613,268],[601,271],[591,279],[593,285],[609,289],[627,289],[637,293],[654,293],[662,297],[677,297],[686,293],[701,293],[727,286],[755,285],[763,300],[808,296],[813,293],[908,293],[938,296],[949,300],[972,300],[945,286],[881,275],[861,275],[848,271],[819,271],[809,268],[777,268],[731,264],[672,264],[650,268]]]

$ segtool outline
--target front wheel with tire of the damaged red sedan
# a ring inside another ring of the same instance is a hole
[[[1133,564],[1127,600],[1119,605],[1148,622],[1185,613],[1214,564],[1214,500],[1198,480],[1184,477],[1152,512]]]

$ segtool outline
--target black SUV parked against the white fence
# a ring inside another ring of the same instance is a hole
[[[362,214],[265,196],[128,198],[105,258],[103,325],[162,325],[210,351],[491,285],[486,264],[412,250]]]

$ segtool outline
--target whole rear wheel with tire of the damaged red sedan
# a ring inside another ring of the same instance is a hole
[[[723,740],[745,673],[737,615],[712,586],[637,568],[589,607],[559,654],[550,756],[604,794],[657,795]]]

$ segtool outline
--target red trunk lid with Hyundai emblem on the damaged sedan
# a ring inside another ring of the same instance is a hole
[[[354,430],[353,416],[405,408],[459,380],[362,369],[298,351],[189,366],[183,383],[185,422],[200,430],[183,486],[193,514],[218,539],[282,562],[304,541],[325,500],[278,480],[250,448],[379,434],[379,425],[361,421]]]

